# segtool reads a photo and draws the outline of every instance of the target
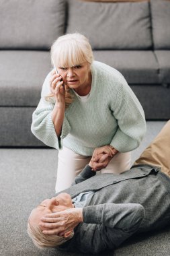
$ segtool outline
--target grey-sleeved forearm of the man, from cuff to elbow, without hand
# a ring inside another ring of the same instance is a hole
[[[120,228],[126,232],[136,230],[144,218],[144,207],[138,203],[103,203],[83,208],[83,222]]]

